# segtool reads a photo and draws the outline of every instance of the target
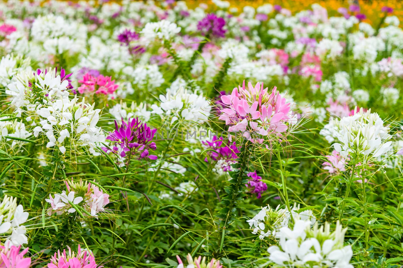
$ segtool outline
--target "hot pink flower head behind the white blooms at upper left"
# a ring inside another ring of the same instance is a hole
[[[83,94],[84,92],[93,92],[96,94],[109,95],[113,94],[119,85],[115,84],[115,80],[112,80],[111,76],[103,76],[102,74],[98,77],[91,76],[87,73],[83,76],[83,79],[78,81],[81,86],[78,88],[78,92]]]

